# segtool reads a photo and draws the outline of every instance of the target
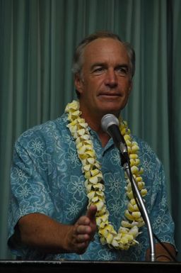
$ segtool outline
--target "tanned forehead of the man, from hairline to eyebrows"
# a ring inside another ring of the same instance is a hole
[[[98,38],[86,45],[84,61],[86,60],[123,60],[129,62],[127,50],[123,43],[113,38]]]

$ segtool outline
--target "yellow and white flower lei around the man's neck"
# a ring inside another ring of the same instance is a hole
[[[91,206],[91,204],[97,206],[96,224],[98,226],[100,242],[103,245],[107,243],[109,247],[115,247],[119,250],[128,250],[130,246],[139,243],[135,238],[139,235],[139,227],[144,225],[144,220],[136,205],[132,193],[132,186],[127,174],[125,173],[125,178],[127,179],[127,186],[125,189],[127,191],[129,203],[124,213],[126,218],[121,222],[121,226],[118,232],[116,232],[109,222],[109,212],[105,205],[103,174],[93,149],[93,143],[88,131],[88,124],[81,118],[78,101],[72,101],[67,104],[65,111],[68,113],[69,124],[67,127],[75,139],[78,157],[82,163],[82,172],[86,178],[85,186],[88,196],[88,207]],[[144,188],[145,184],[141,177],[143,169],[139,168],[139,146],[136,142],[132,141],[130,130],[127,128],[127,123],[121,121],[120,118],[119,129],[127,143],[132,174],[140,190],[141,196],[145,196],[147,191]]]

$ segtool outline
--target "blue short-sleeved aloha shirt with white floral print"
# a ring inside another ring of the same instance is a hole
[[[8,238],[13,235],[18,220],[28,213],[44,213],[54,220],[74,224],[85,215],[88,198],[85,178],[78,160],[76,145],[67,128],[67,114],[54,121],[35,126],[16,141],[11,167],[11,201],[8,211]],[[127,208],[124,169],[119,151],[112,139],[102,147],[97,133],[89,128],[96,155],[102,165],[106,206],[110,222],[119,229]],[[168,211],[163,165],[143,140],[133,136],[139,144],[139,158],[144,168],[143,179],[148,194],[144,198],[153,226],[153,233],[175,245],[174,223]],[[144,261],[149,247],[146,225],[140,228],[138,245],[129,250],[115,250],[102,245],[98,234],[82,255],[75,253],[42,254],[28,247],[11,246],[11,251],[23,260],[98,260]]]

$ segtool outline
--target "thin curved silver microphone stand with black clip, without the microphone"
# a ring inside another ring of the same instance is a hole
[[[148,228],[148,238],[150,243],[150,260],[151,262],[156,261],[156,250],[155,250],[155,244],[153,240],[153,229],[151,226],[151,221],[148,216],[148,212],[146,210],[146,206],[144,204],[144,200],[142,199],[142,196],[139,192],[138,186],[136,184],[136,181],[134,179],[134,176],[132,175],[131,168],[129,165],[129,156],[127,154],[127,147],[124,145],[124,143],[119,143],[119,155],[121,158],[121,165],[124,168],[124,171],[127,173],[127,177],[129,177],[129,180],[132,184],[132,191],[133,194],[135,193],[136,196],[134,196],[136,204],[139,203],[139,208],[141,208],[141,216],[144,218],[144,221],[146,222],[147,228]],[[138,204],[137,204],[138,205]]]

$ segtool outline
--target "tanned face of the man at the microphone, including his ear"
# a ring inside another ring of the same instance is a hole
[[[81,77],[76,76],[83,116],[119,115],[132,89],[129,57],[124,45],[98,38],[85,48]]]

